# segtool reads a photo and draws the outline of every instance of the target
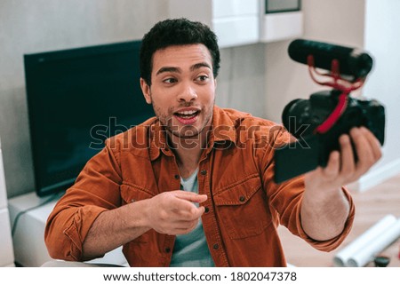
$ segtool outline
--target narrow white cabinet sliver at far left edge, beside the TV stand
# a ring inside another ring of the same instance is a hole
[[[14,253],[12,248],[12,234],[10,218],[7,208],[7,194],[5,191],[3,154],[0,141],[0,266],[12,266]]]

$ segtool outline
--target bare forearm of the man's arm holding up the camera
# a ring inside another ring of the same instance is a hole
[[[306,191],[301,202],[301,226],[316,241],[327,241],[344,229],[350,205],[341,188],[334,191]]]

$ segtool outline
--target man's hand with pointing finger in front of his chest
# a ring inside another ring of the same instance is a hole
[[[206,200],[205,194],[181,190],[157,194],[147,201],[145,224],[160,234],[188,234],[204,213],[204,207],[194,202]]]

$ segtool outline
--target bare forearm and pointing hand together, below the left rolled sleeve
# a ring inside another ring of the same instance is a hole
[[[206,199],[206,195],[177,190],[104,211],[86,235],[83,257],[99,257],[149,229],[160,234],[188,234],[204,213],[204,207],[197,208],[194,203]]]

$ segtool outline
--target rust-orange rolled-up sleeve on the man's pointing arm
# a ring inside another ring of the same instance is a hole
[[[83,261],[83,243],[95,219],[101,212],[121,205],[121,171],[116,154],[116,146],[107,143],[56,203],[44,230],[52,258]]]

